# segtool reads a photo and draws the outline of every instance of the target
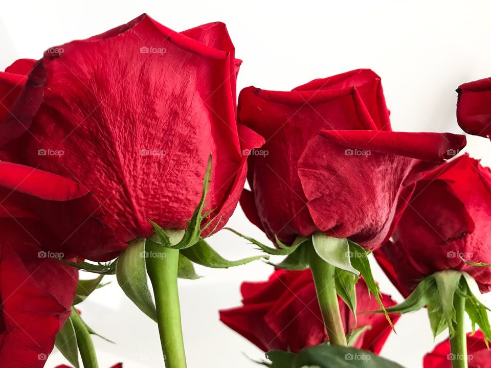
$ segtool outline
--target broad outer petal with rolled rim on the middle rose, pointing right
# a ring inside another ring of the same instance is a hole
[[[391,235],[419,160],[441,162],[464,142],[453,134],[321,131],[298,163],[311,218],[328,235],[376,249]]]

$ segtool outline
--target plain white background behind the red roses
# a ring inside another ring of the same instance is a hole
[[[288,90],[311,79],[354,68],[382,77],[394,130],[461,133],[455,88],[491,76],[491,3],[429,1],[143,1],[4,2],[0,14],[0,67],[16,58],[38,59],[54,45],[86,38],[146,12],[182,31],[210,21],[228,26],[236,56],[244,60],[238,89],[249,85]],[[491,164],[491,143],[468,137],[467,151]],[[229,225],[266,241],[238,208]],[[254,253],[225,231],[210,243],[229,258]],[[382,290],[400,295],[375,267]],[[190,368],[254,367],[242,352],[261,352],[218,321],[220,308],[239,305],[243,280],[264,280],[270,266],[256,262],[229,270],[198,267],[198,281],[180,282],[184,337]],[[80,309],[87,323],[117,342],[96,338],[101,368],[162,367],[157,326],[137,310],[116,282],[94,292]],[[382,354],[408,368],[432,350],[425,311],[405,315]],[[442,336],[441,338],[443,338]],[[440,339],[441,339],[440,338]],[[47,367],[64,362],[54,352]]]

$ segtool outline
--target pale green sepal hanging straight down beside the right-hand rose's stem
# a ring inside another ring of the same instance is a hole
[[[433,273],[436,281],[442,314],[450,330],[450,334],[455,334],[453,321],[455,320],[454,295],[459,288],[462,273],[455,270],[445,270]]]

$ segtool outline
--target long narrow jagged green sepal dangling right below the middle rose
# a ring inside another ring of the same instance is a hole
[[[382,303],[382,292],[380,291],[380,287],[378,287],[378,284],[373,278],[372,268],[370,267],[370,262],[368,260],[368,256],[371,252],[350,240],[348,240],[348,244],[351,264],[363,276],[363,280],[367,285],[368,291],[370,291],[370,293],[375,296],[375,300],[377,301],[378,305],[380,305],[382,312],[385,313],[385,317],[387,318],[389,325],[392,327],[392,330],[394,330],[392,320],[390,319],[389,314],[385,310],[385,306]]]

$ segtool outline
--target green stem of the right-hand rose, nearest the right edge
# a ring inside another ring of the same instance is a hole
[[[467,368],[467,334],[465,332],[465,294],[462,289],[454,295],[455,335],[450,337],[452,368]],[[465,289],[464,289],[465,290]]]

